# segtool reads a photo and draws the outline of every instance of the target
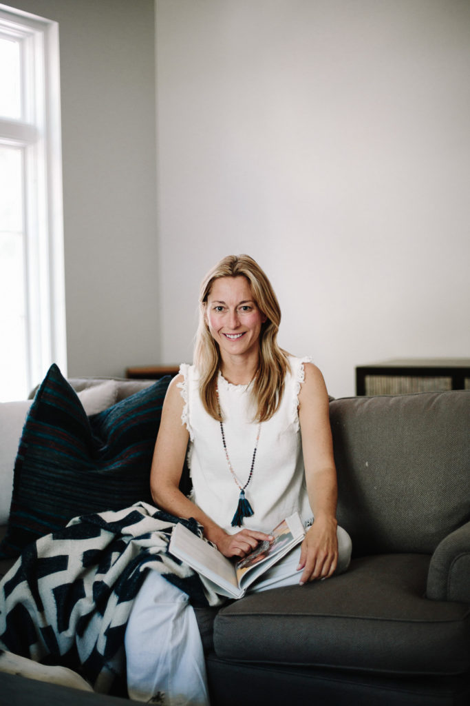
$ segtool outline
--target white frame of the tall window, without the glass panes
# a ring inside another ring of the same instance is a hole
[[[0,143],[23,150],[26,384],[56,362],[67,374],[58,23],[0,4],[0,34],[20,42],[21,116]]]

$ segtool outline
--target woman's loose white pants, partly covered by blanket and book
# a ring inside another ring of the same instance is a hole
[[[338,568],[351,557],[349,534],[338,527]],[[299,582],[300,546],[271,567],[249,593]],[[196,616],[187,594],[156,571],[149,571],[135,598],[125,631],[128,692],[150,702],[159,695],[165,706],[209,706],[206,666]]]

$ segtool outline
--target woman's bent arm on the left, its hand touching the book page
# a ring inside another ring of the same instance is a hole
[[[259,541],[268,539],[268,536],[263,532],[246,529],[237,534],[227,534],[179,489],[189,441],[189,433],[181,420],[184,402],[178,383],[182,381],[182,375],[173,378],[163,402],[160,428],[151,462],[151,496],[159,508],[172,515],[194,517],[204,527],[205,537],[214,542],[225,556],[246,556]]]

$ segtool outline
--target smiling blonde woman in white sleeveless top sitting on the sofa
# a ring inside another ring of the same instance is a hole
[[[194,365],[181,366],[163,405],[151,468],[156,505],[194,517],[229,558],[247,556],[298,510],[310,525],[304,541],[251,591],[304,585],[345,570],[351,546],[335,519],[321,372],[278,347],[278,301],[249,256],[223,258],[204,278],[199,303]],[[190,498],[178,488],[188,444]],[[125,647],[132,698],[148,700],[159,691],[172,706],[209,702],[194,611],[156,572],[149,572],[132,608]]]

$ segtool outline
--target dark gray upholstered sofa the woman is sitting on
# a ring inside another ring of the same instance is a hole
[[[467,706],[470,391],[333,400],[330,421],[350,569],[199,609],[213,704]]]

